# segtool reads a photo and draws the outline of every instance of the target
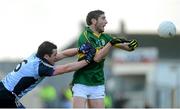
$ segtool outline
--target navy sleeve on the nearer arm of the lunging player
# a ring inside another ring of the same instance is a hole
[[[43,76],[52,76],[54,72],[54,68],[44,65],[43,63],[39,64],[39,69],[38,69],[38,73],[40,77]]]

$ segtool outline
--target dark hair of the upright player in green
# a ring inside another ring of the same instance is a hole
[[[87,17],[86,17],[86,23],[87,23],[87,25],[91,25],[91,24],[92,24],[91,20],[92,20],[93,18],[97,20],[98,17],[99,17],[100,15],[102,15],[102,14],[104,14],[104,12],[101,11],[101,10],[90,11],[90,12],[88,13]]]

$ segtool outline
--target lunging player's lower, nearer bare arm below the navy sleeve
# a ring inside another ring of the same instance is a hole
[[[59,65],[55,68],[55,71],[53,72],[53,76],[76,71],[86,65],[88,65],[88,63],[85,60],[68,63],[65,65]]]

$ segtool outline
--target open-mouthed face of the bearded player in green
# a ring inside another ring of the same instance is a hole
[[[104,14],[100,15],[96,22],[96,31],[99,33],[104,32],[104,27],[107,23],[106,16]]]

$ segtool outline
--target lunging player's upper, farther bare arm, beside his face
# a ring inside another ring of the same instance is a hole
[[[75,56],[77,53],[78,53],[78,48],[70,48],[70,49],[66,49],[64,51],[61,51],[56,56],[56,62],[63,59],[63,58],[66,58],[66,57]]]

